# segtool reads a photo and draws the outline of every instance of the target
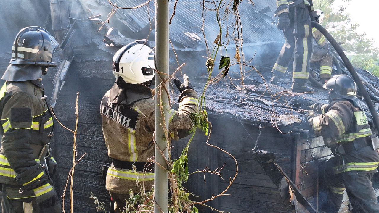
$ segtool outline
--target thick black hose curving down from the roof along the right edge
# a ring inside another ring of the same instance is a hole
[[[315,27],[318,31],[320,31],[325,36],[325,38],[330,42],[330,44],[332,44],[332,46],[334,47],[335,51],[341,57],[343,63],[346,66],[346,68],[348,68],[348,70],[349,70],[352,78],[357,83],[357,86],[358,86],[360,92],[362,93],[362,96],[365,99],[365,102],[367,103],[368,108],[370,109],[371,116],[373,117],[375,129],[379,133],[379,117],[378,117],[378,114],[376,113],[374,104],[373,104],[373,102],[372,102],[372,100],[370,98],[370,95],[368,94],[365,86],[363,85],[362,81],[360,80],[359,75],[357,74],[357,72],[354,69],[354,67],[351,65],[348,57],[345,55],[345,53],[343,52],[341,46],[335,41],[335,39],[333,38],[333,36],[330,35],[330,33],[328,33],[328,31],[326,31],[323,28],[323,26],[321,26],[317,22],[313,22],[312,21],[312,27]]]

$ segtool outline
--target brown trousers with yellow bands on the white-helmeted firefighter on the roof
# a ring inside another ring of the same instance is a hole
[[[332,77],[333,56],[328,49],[319,48],[317,45],[314,45],[310,62],[320,63],[320,78],[329,79]]]

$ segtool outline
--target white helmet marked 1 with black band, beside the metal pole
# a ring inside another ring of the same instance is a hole
[[[113,74],[126,83],[138,84],[154,78],[154,51],[147,40],[136,40],[113,56]]]

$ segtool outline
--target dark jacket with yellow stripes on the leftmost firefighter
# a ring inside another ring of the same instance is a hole
[[[53,130],[53,117],[41,86],[39,80],[6,81],[0,90],[0,183],[22,188],[22,193],[10,195],[15,196],[10,199],[27,195],[42,202],[55,196],[49,174],[38,159]],[[48,161],[56,165],[52,157]]]

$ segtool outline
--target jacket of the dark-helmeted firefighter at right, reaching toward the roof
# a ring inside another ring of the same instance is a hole
[[[379,155],[369,146],[371,128],[360,107],[342,99],[322,105],[319,113],[321,115],[310,118],[308,122],[315,135],[323,136],[325,145],[337,157],[341,156],[340,164],[333,168],[335,174],[347,171],[372,172],[378,167]],[[353,145],[360,148],[346,150],[346,153],[339,151],[340,146]]]

